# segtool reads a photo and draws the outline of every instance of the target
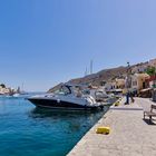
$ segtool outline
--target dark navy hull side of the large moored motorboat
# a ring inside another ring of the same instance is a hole
[[[69,101],[58,101],[55,99],[37,99],[37,98],[28,98],[29,101],[31,101],[37,107],[43,107],[43,108],[51,108],[51,109],[89,109],[95,110],[103,108],[101,106],[82,106],[79,104],[74,104]]]

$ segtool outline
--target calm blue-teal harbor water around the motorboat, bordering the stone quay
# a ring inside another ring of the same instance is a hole
[[[52,111],[0,97],[0,156],[64,156],[105,111]]]

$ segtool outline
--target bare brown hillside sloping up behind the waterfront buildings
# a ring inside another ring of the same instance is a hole
[[[146,62],[140,62],[137,65],[133,65],[133,66],[130,66],[130,69],[131,69],[131,72],[135,74],[135,72],[140,72],[139,70],[146,70],[149,66],[156,66],[156,59],[153,59],[153,60],[149,60]],[[113,79],[119,78],[119,77],[126,77],[127,69],[128,69],[128,67],[124,67],[124,66],[120,66],[117,68],[111,68],[111,69],[104,69],[101,71],[98,71],[98,72],[92,74],[92,75],[88,75],[86,77],[71,79],[68,82],[71,82],[71,84],[92,84],[95,86],[99,86],[104,81],[109,81],[109,80],[113,80]],[[60,85],[61,84],[49,89],[48,92],[56,90]]]

